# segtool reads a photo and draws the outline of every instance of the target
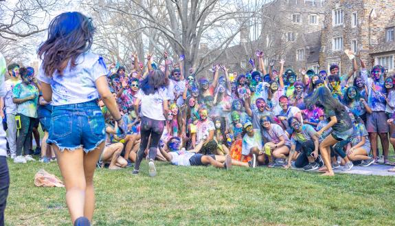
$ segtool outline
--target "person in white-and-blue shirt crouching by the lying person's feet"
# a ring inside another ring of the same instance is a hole
[[[258,163],[264,164],[265,157],[262,152],[262,137],[259,130],[253,129],[251,122],[246,122],[243,128],[246,133],[242,138],[241,161],[252,156],[253,167],[255,167],[258,155]]]

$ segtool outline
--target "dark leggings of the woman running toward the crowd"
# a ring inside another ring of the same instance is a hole
[[[144,151],[148,146],[148,139],[150,139],[150,137],[150,150],[148,151],[148,158],[154,160],[157,156],[157,148],[163,133],[164,126],[165,121],[153,120],[145,116],[142,117],[142,122],[140,124],[140,134],[142,135],[142,138],[140,149],[137,152],[135,170],[139,170],[140,168],[140,163],[142,163]]]

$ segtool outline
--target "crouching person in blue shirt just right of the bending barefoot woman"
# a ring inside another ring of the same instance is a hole
[[[370,166],[374,159],[369,157],[370,141],[369,134],[359,116],[350,113],[351,121],[354,122],[354,134],[352,135],[351,148],[347,150],[347,157],[351,161],[362,161],[361,166]]]

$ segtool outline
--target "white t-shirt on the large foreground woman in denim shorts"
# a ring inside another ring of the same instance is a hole
[[[52,78],[45,75],[43,65],[38,72],[38,80],[51,84],[52,105],[78,104],[99,98],[95,81],[107,75],[106,64],[101,56],[84,53],[78,56],[76,67],[70,69],[70,63],[63,76],[55,71]]]

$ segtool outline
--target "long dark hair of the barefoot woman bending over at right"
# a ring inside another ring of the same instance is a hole
[[[326,110],[344,111],[346,107],[339,102],[339,100],[332,97],[332,93],[327,87],[318,87],[315,91],[304,98],[306,106],[311,106],[319,102]]]

